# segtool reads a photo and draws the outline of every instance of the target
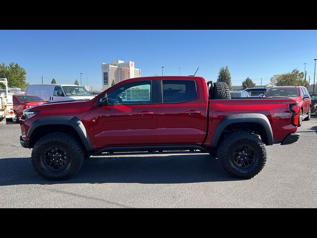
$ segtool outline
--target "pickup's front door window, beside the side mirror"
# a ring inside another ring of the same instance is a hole
[[[126,83],[107,93],[108,104],[151,103],[151,81]]]

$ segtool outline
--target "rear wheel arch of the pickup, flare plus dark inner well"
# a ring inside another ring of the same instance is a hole
[[[225,117],[214,130],[211,148],[217,148],[223,137],[235,130],[256,131],[265,145],[273,144],[273,132],[269,120],[263,114],[235,114]]]

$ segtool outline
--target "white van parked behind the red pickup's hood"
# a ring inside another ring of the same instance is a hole
[[[72,84],[31,84],[26,93],[50,102],[94,98],[84,86]]]

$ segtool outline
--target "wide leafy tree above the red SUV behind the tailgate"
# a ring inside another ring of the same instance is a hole
[[[275,74],[270,81],[275,86],[309,86],[309,83],[304,80],[304,72],[300,72],[298,69],[284,74]]]

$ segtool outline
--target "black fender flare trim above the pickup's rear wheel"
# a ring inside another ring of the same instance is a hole
[[[235,114],[226,116],[215,128],[211,139],[211,148],[217,147],[222,131],[230,124],[233,123],[257,123],[264,128],[266,134],[266,145],[273,144],[273,132],[269,120],[264,114],[260,113],[246,113],[246,114]]]

